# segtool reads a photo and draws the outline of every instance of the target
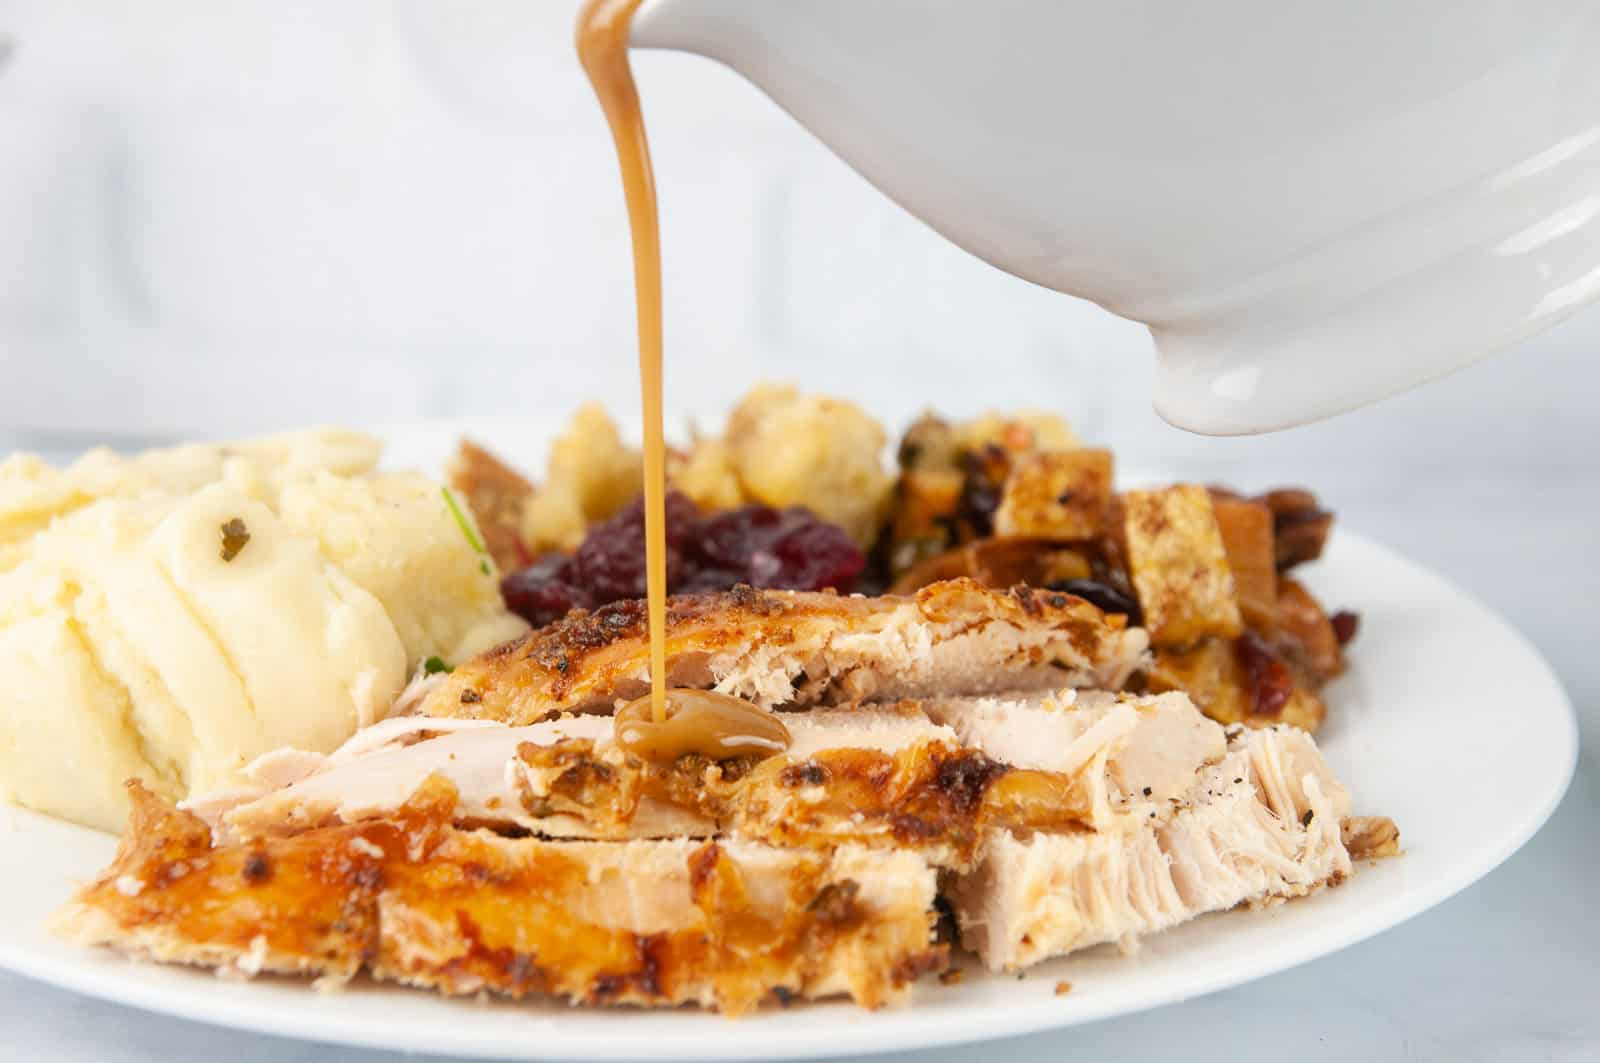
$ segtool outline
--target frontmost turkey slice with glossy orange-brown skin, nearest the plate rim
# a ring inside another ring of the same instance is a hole
[[[450,824],[434,778],[395,815],[218,844],[133,784],[133,824],[58,932],[234,973],[360,972],[469,994],[699,1004],[848,994],[944,965],[917,855],[747,842],[547,842]]]

